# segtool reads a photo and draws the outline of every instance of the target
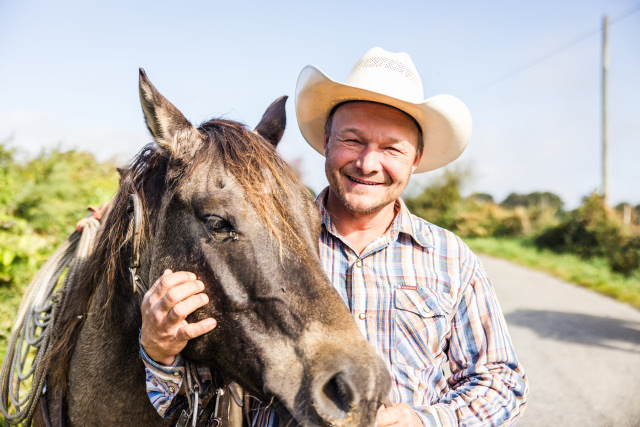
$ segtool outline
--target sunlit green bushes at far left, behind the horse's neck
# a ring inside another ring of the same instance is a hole
[[[22,293],[31,277],[74,230],[89,205],[109,200],[118,184],[112,162],[52,149],[23,161],[0,142],[0,354],[4,355]]]

